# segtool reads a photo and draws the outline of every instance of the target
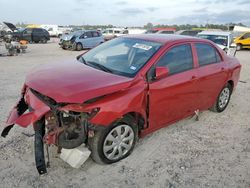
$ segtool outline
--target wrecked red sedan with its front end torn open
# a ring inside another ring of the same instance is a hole
[[[43,142],[66,149],[85,143],[96,162],[114,163],[138,137],[198,110],[224,111],[241,70],[213,42],[180,35],[126,35],[77,59],[34,69],[2,132],[34,124],[40,173]]]

